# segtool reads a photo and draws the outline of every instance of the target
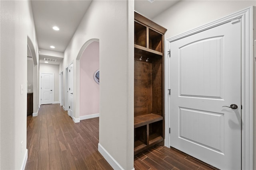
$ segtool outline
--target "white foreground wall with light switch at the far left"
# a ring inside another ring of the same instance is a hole
[[[22,169],[27,153],[28,37],[34,51],[38,49],[30,1],[0,1],[0,17],[0,169]]]

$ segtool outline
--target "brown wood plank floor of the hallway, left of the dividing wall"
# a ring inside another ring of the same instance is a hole
[[[27,118],[25,170],[111,170],[98,152],[99,118],[74,123],[59,104]]]

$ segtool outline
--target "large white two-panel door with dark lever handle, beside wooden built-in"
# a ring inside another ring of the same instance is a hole
[[[241,169],[241,22],[170,43],[170,145]],[[235,104],[237,109],[223,106]]]

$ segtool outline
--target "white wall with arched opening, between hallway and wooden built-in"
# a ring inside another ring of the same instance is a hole
[[[100,42],[99,143],[111,164],[114,159],[122,168],[131,170],[134,159],[134,2],[92,1],[64,52],[60,71],[74,61],[76,119],[79,119],[79,61],[76,58],[90,39]]]

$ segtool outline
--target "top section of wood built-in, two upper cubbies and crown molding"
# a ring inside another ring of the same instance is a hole
[[[134,12],[134,47],[143,51],[163,55],[166,29]]]

